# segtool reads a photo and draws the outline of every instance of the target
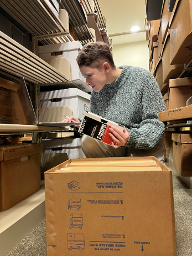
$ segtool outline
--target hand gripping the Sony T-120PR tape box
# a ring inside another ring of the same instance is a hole
[[[124,130],[122,131],[116,127],[111,127],[109,130],[110,133],[108,133],[108,135],[113,140],[113,142],[111,143],[113,148],[119,148],[127,143],[129,139],[129,133],[127,132],[126,128],[124,128]]]

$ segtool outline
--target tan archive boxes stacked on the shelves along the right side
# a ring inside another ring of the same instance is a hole
[[[187,101],[189,102],[189,98],[192,96],[192,80],[190,74],[189,77],[181,77],[192,58],[191,1],[164,0],[160,17],[158,21],[148,22],[146,20],[146,33],[149,40],[149,71],[155,77],[167,107],[167,111],[159,114],[159,120],[162,122],[175,122],[179,119],[190,120],[192,118],[191,106],[188,105],[191,103],[187,103]],[[151,37],[151,26],[157,33],[155,36],[153,35],[157,38],[157,42],[153,42]],[[150,44],[151,40],[153,45]],[[156,64],[155,67],[153,62]],[[190,128],[183,130],[189,132]],[[186,153],[180,147],[182,143],[191,143],[191,135],[165,132],[164,138],[167,155],[169,155],[173,141],[174,168],[181,175],[191,176],[192,167],[185,164],[190,159],[190,149],[188,147],[188,153]]]

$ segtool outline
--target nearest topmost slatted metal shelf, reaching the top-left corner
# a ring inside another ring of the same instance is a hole
[[[55,34],[55,38],[42,38],[42,44],[74,41],[45,0],[1,0],[0,6],[33,36],[61,33]]]

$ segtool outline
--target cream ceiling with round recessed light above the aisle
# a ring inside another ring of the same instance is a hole
[[[102,16],[106,18],[107,31],[113,45],[146,40],[146,32],[131,33],[133,26],[144,30],[146,0],[98,0]],[[126,35],[117,35],[128,33]]]

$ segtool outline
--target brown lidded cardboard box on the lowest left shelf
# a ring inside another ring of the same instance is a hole
[[[0,147],[0,210],[7,210],[40,189],[41,143]]]

